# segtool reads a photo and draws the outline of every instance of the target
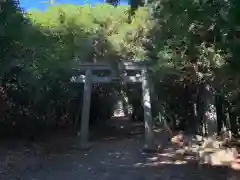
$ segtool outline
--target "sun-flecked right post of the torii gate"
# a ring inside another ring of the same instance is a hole
[[[144,109],[144,123],[145,123],[145,147],[146,151],[152,151],[154,147],[153,138],[153,122],[151,112],[150,87],[146,69],[142,70],[142,95],[143,95],[143,109]]]

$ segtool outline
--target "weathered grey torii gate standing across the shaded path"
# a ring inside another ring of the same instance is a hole
[[[142,98],[144,109],[144,124],[145,124],[145,146],[146,150],[154,150],[153,137],[153,122],[151,113],[150,86],[147,75],[147,68],[141,62],[123,62],[118,64],[120,75],[109,64],[87,63],[81,64],[77,69],[77,76],[72,77],[74,83],[84,83],[83,106],[81,114],[81,129],[80,129],[80,148],[88,149],[89,138],[89,113],[91,103],[91,91],[94,83],[141,83]],[[101,76],[96,72],[106,72],[110,74]],[[133,74],[133,75],[131,75]]]

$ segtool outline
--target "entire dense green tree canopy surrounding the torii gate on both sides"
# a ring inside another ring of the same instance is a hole
[[[22,12],[13,0],[1,3],[1,121],[19,123],[21,130],[21,119],[72,121],[79,96],[79,88],[69,84],[73,67],[148,60],[158,96],[154,114],[160,111],[173,128],[192,123],[199,131],[209,86],[219,131],[224,124],[237,133],[240,2],[132,0],[130,9],[108,3],[114,6],[56,5],[45,12]]]

